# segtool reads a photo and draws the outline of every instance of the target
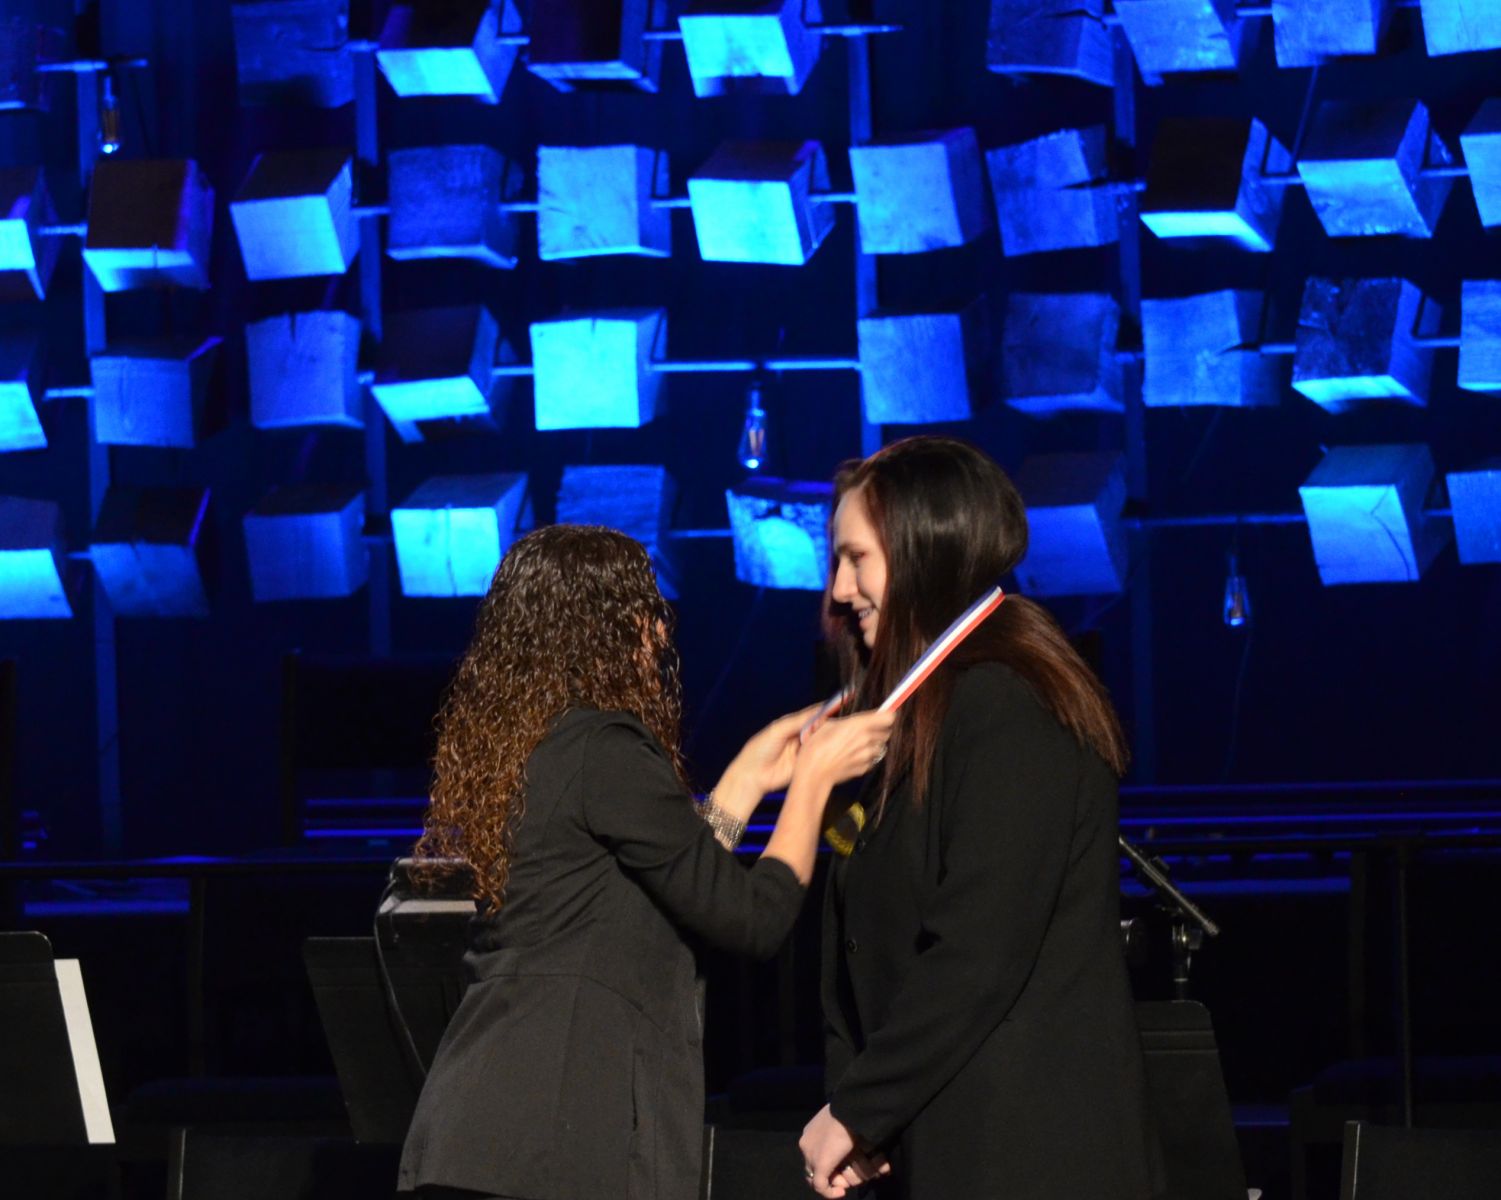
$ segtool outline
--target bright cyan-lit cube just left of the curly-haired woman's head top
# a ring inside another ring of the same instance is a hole
[[[429,479],[390,511],[401,593],[483,596],[525,514],[525,475]]]

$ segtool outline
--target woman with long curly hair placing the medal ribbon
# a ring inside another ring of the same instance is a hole
[[[767,957],[812,876],[830,788],[890,719],[809,713],[752,737],[695,811],[671,610],[609,529],[518,541],[438,719],[419,859],[467,862],[471,984],[402,1149],[419,1195],[692,1200],[702,1053],[689,939]],[[750,870],[732,843],[787,788]]]

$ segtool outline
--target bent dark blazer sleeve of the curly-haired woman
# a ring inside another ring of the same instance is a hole
[[[803,885],[781,859],[747,871],[714,841],[645,725],[612,716],[590,731],[581,787],[588,832],[672,921],[722,949],[776,952]]]

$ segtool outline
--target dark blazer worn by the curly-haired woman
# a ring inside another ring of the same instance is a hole
[[[507,900],[402,1147],[402,1188],[528,1200],[698,1195],[702,1033],[684,936],[769,957],[803,888],[749,871],[633,716],[579,709],[527,763]]]

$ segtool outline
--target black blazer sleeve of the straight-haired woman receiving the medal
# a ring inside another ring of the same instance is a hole
[[[890,1141],[1016,1003],[1063,888],[1082,751],[1009,668],[965,671],[938,752],[943,864],[925,949],[830,1101]]]

